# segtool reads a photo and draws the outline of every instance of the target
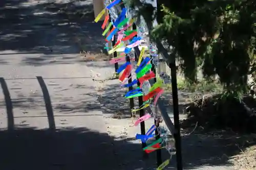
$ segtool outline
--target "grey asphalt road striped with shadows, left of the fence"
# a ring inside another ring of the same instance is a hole
[[[2,170],[114,169],[79,29],[58,6],[0,2]]]

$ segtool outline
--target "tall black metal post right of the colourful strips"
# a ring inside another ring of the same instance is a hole
[[[174,109],[174,127],[176,133],[174,133],[175,138],[175,148],[176,148],[176,161],[177,170],[182,170],[182,153],[181,153],[181,137],[180,137],[180,123],[179,123],[179,101],[178,101],[178,87],[177,87],[177,67],[175,59],[169,64],[170,67],[170,77],[172,79],[172,91],[173,91],[173,109]]]

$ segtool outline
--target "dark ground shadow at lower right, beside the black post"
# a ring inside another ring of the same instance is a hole
[[[182,137],[184,167],[232,166],[233,156],[255,144],[255,138],[250,135],[227,131],[195,132]]]

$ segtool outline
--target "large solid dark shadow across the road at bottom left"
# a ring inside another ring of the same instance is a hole
[[[13,132],[1,130],[0,140],[1,169],[113,170],[143,168],[145,162],[154,164],[138,156],[140,144],[87,128],[68,127],[53,132],[19,127]],[[127,153],[125,158],[120,150]]]

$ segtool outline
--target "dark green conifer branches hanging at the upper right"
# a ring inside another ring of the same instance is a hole
[[[130,2],[139,8],[138,15],[147,25],[157,18],[152,38],[173,47],[190,84],[197,82],[197,67],[201,66],[205,78],[219,76],[227,94],[247,90],[247,75],[256,54],[253,0],[158,0],[160,10],[139,0]]]

